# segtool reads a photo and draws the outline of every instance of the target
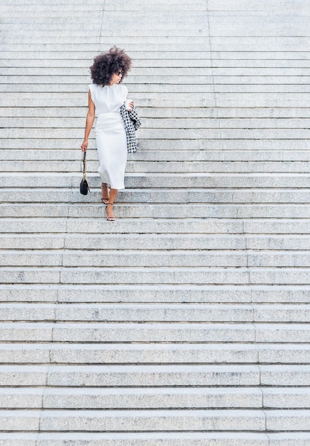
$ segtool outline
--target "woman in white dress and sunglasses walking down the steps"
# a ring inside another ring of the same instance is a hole
[[[91,66],[93,83],[89,85],[85,138],[81,148],[83,152],[88,148],[88,136],[97,115],[95,138],[102,182],[101,201],[106,204],[109,222],[115,220],[113,203],[118,190],[125,189],[127,141],[120,107],[127,98],[128,89],[120,83],[127,76],[130,66],[130,57],[115,46],[108,53],[95,57]],[[133,101],[130,101],[128,110],[133,110]]]

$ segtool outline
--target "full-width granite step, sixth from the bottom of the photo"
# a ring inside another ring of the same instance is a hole
[[[94,321],[83,321],[78,323],[63,323],[60,321],[56,323],[55,321],[51,321],[50,323],[39,322],[41,319],[36,321],[35,323],[30,322],[16,322],[16,330],[14,330],[13,323],[3,323],[3,328],[1,328],[1,340],[4,342],[14,341],[38,341],[40,342],[51,342],[55,341],[56,343],[118,343],[122,344],[125,342],[133,342],[133,343],[217,343],[217,342],[227,342],[227,343],[275,343],[277,346],[261,346],[262,347],[262,356],[264,356],[264,348],[270,351],[274,348],[274,352],[284,351],[283,358],[286,358],[286,361],[294,362],[289,360],[290,348],[293,358],[299,358],[298,361],[304,361],[304,359],[299,355],[298,350],[299,346],[296,346],[297,343],[300,343],[301,351],[308,351],[306,344],[309,342],[309,328],[307,328],[306,323],[285,323],[285,321],[279,321],[279,323],[251,323],[244,322],[244,326],[240,321],[231,322],[224,321],[224,323],[158,323],[158,322],[132,322],[132,321],[124,321],[124,323],[120,323],[116,321],[114,323],[108,323],[106,321],[94,322]],[[56,320],[56,319],[55,319]],[[63,338],[61,338],[63,336]],[[292,343],[292,347],[288,346],[280,346],[281,343]],[[9,349],[11,346],[9,344],[4,345],[4,348]],[[36,346],[29,347],[35,348]],[[89,345],[86,346],[86,349],[91,351],[92,348],[100,350],[103,346]],[[296,356],[294,356],[294,348],[296,347]],[[13,348],[13,347],[12,347]],[[21,346],[23,348],[23,346]],[[44,347],[42,347],[44,348]],[[46,347],[48,348],[48,347]],[[53,346],[49,348],[53,349]],[[70,350],[69,346],[58,346],[65,350]],[[73,350],[76,347],[72,347]],[[83,346],[80,348],[83,349]],[[108,348],[105,346],[105,348]],[[125,346],[123,346],[125,348]],[[136,347],[138,348],[138,347]],[[163,348],[165,350],[166,347],[162,346],[154,346],[156,349]],[[170,349],[172,346],[169,347]],[[188,348],[185,346],[176,346],[180,348]],[[212,346],[194,346],[195,348],[211,348]],[[215,351],[218,348],[215,346]],[[231,349],[242,348],[242,346],[227,346],[227,351]],[[253,354],[255,352],[255,345],[248,346],[249,354]],[[114,346],[112,350],[115,350]],[[133,347],[133,350],[135,348]],[[244,346],[244,349],[247,350],[247,346]],[[145,347],[145,351],[148,350],[148,347]],[[219,348],[220,353],[221,348]],[[259,350],[259,347],[257,347]],[[285,354],[287,351],[287,355]],[[115,353],[115,352],[114,352]],[[199,352],[198,352],[199,353]],[[100,356],[100,353],[98,353]],[[274,353],[276,354],[276,353]],[[115,353],[116,355],[116,353]],[[162,353],[164,355],[164,353]],[[309,353],[306,353],[306,357],[309,356]],[[152,352],[150,352],[150,357],[152,357]],[[268,355],[265,355],[267,358]],[[272,357],[272,355],[270,356]],[[5,358],[5,356],[4,356]],[[258,361],[258,353],[257,356],[252,356],[252,362]],[[18,361],[18,358],[17,358]],[[207,361],[207,360],[206,360]],[[206,362],[205,361],[205,362]],[[224,362],[226,360],[224,359]],[[296,362],[298,362],[296,361]],[[125,361],[126,362],[126,361]],[[211,361],[212,362],[212,361]],[[248,362],[248,361],[247,361]]]

